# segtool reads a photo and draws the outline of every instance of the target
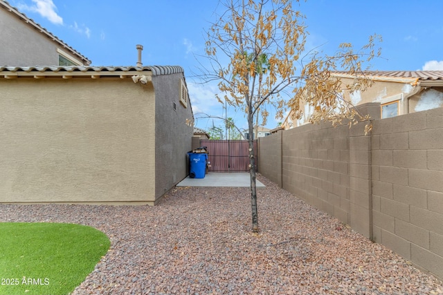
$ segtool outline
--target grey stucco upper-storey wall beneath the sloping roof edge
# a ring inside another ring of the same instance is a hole
[[[0,66],[55,66],[57,48],[63,49],[41,32],[0,8]]]

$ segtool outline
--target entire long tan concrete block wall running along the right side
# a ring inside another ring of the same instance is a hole
[[[260,139],[260,173],[443,278],[443,108],[383,120],[379,104],[359,109],[370,135],[320,124]]]

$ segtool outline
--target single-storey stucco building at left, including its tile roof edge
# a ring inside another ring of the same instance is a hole
[[[155,204],[192,119],[179,66],[0,66],[0,202]]]

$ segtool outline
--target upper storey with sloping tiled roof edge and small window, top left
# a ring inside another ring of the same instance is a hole
[[[0,0],[0,66],[89,66],[84,57],[17,8]]]

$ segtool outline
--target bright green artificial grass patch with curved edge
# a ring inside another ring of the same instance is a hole
[[[84,225],[0,222],[0,295],[69,294],[110,244]]]

